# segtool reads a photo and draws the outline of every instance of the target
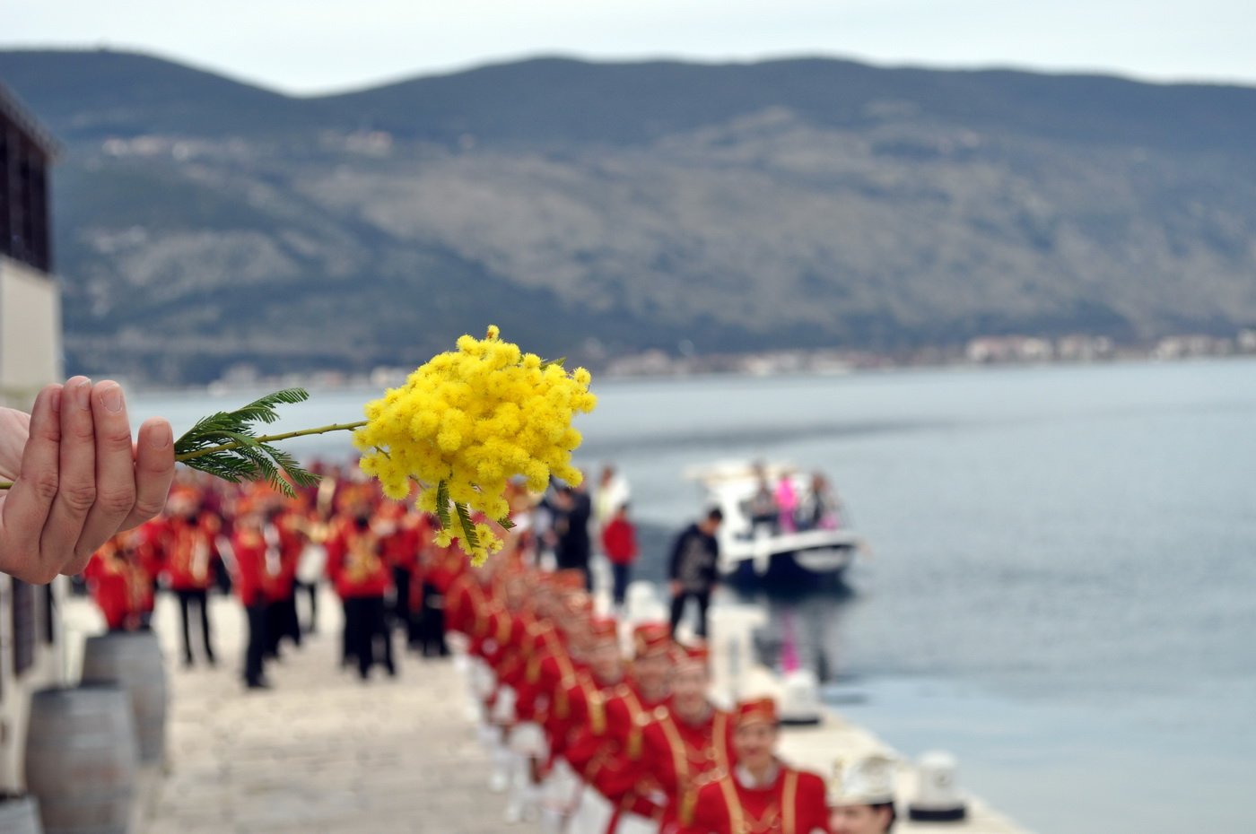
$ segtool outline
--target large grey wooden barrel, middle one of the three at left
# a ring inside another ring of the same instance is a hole
[[[30,698],[26,790],[45,834],[127,834],[138,755],[127,693],[114,685]]]

